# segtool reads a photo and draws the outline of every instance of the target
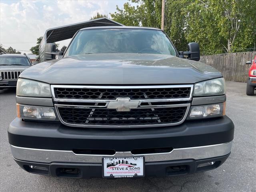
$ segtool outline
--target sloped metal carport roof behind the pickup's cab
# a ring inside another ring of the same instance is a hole
[[[87,27],[97,27],[97,26],[124,26],[118,22],[115,22],[109,18],[98,18],[94,20],[84,21],[80,23],[74,23],[70,25],[50,28],[46,30],[44,34],[44,40],[46,43],[58,42],[66,39],[70,39],[74,34],[82,29]]]

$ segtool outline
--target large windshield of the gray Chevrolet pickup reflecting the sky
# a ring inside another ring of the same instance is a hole
[[[97,53],[176,55],[166,34],[150,29],[94,29],[78,32],[65,56]]]

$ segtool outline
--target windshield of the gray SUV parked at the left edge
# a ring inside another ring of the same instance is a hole
[[[0,56],[0,65],[24,65],[29,66],[30,62],[26,57],[21,56]]]

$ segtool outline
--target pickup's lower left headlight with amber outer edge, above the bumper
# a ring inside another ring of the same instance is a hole
[[[17,104],[17,116],[24,119],[58,120],[53,107],[38,107]]]

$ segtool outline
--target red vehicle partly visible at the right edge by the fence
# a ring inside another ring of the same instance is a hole
[[[249,70],[249,78],[247,80],[246,95],[253,95],[256,89],[256,56],[254,60],[247,61],[246,64],[252,64]]]

